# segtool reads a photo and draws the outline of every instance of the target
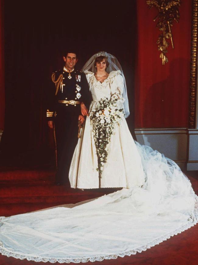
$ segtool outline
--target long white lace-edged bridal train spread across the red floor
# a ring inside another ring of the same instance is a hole
[[[136,147],[145,173],[142,187],[2,217],[0,252],[51,263],[101,261],[136,254],[195,225],[198,199],[189,179],[161,153]]]

